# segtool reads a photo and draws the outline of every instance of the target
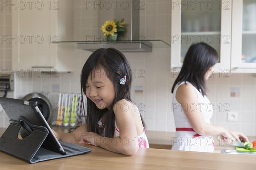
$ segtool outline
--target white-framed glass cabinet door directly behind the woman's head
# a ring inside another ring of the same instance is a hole
[[[220,58],[214,71],[229,71],[231,15],[231,0],[172,1],[171,69],[181,68],[189,46],[205,42]]]

